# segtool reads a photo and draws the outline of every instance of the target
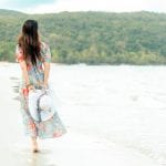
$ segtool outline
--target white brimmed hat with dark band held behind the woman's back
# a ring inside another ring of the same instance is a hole
[[[32,90],[29,92],[29,112],[35,121],[46,121],[53,116],[55,108],[49,90]]]

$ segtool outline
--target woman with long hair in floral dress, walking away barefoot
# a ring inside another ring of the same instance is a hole
[[[58,113],[48,121],[34,121],[29,112],[28,95],[34,89],[49,89],[51,53],[49,45],[40,41],[38,22],[27,20],[15,49],[15,61],[20,63],[22,77],[19,86],[21,113],[25,134],[32,139],[32,152],[39,152],[37,138],[53,138],[66,133]]]

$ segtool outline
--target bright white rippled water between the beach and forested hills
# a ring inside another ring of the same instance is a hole
[[[51,65],[50,82],[69,128],[166,164],[166,66]],[[0,65],[3,74],[19,77],[20,68]]]

